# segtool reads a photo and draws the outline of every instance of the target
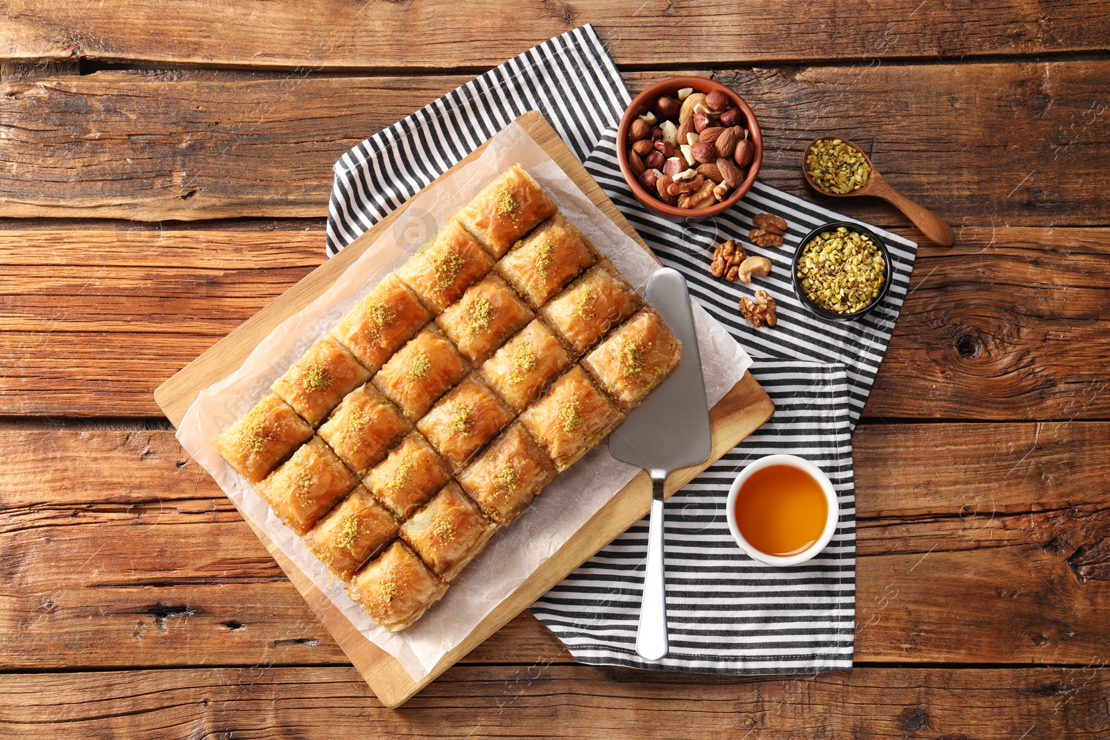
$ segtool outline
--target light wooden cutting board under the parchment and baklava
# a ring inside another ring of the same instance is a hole
[[[594,182],[594,179],[541,113],[528,111],[516,121],[563,168],[563,171],[597,207],[626,234],[636,240],[636,243],[643,246],[648,254],[652,254],[644,240],[617,211],[617,207]],[[485,146],[486,144],[478,146],[442,176],[453,173],[456,169],[474,160]],[[159,386],[154,392],[154,399],[174,426],[181,423],[185,410],[203,388],[230,375],[278,324],[309,305],[327,290],[340,274],[361,256],[366,247],[384,230],[389,229],[406,209],[407,203],[383,219],[339,255],[306,275],[278,300]],[[735,447],[737,443],[770,418],[774,410],[775,407],[767,394],[759,387],[750,373],[745,373],[744,378],[709,410],[713,428],[713,452],[709,454],[709,459],[699,465],[679,468],[672,473],[667,478],[666,495],[673,494],[707,468],[710,463]],[[567,574],[589,559],[597,550],[644,518],[650,507],[650,500],[652,481],[647,474],[642,472],[608,504],[603,506],[555,555],[539,566],[516,591],[498,605],[462,645],[444,656],[431,675],[421,681],[414,681],[391,655],[363,637],[327,597],[313,585],[309,577],[278,549],[265,533],[256,527],[250,518],[244,517],[244,519],[273,555],[285,575],[293,581],[312,610],[320,617],[324,627],[332,633],[382,703],[386,707],[400,707],[440,673],[501,629],[505,622],[526,609],[528,605],[543,596]]]

